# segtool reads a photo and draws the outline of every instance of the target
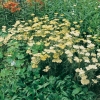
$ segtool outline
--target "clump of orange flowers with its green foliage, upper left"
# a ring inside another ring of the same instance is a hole
[[[16,20],[30,19],[30,14],[41,12],[44,2],[41,0],[7,0],[0,2],[0,28],[2,26],[11,27]],[[42,12],[41,12],[42,13]]]

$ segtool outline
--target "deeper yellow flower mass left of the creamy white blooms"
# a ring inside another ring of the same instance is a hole
[[[8,35],[4,40],[2,39],[2,42],[7,44],[9,40],[26,41],[28,46],[26,53],[32,56],[32,68],[37,68],[40,61],[47,59],[51,59],[52,63],[61,63],[61,56],[67,52],[68,47],[71,48],[75,42],[74,38],[77,38],[80,33],[75,29],[69,30],[70,22],[67,19],[62,19],[62,21],[63,23],[57,18],[50,20],[48,15],[43,18],[33,17],[33,20],[27,22],[18,20],[13,28],[8,29]],[[45,49],[41,53],[34,54],[32,47],[41,46],[41,43]],[[73,51],[65,54],[71,59]]]

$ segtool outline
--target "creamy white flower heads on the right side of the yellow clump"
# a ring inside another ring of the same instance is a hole
[[[84,70],[79,68],[76,69],[76,72],[78,72],[78,75],[81,77],[81,83],[83,85],[88,85],[90,82],[96,84],[99,79],[99,75],[96,76],[96,71],[100,67],[100,49],[95,49],[95,44],[92,43],[91,38],[92,35],[87,35],[86,40],[81,39],[84,43],[87,44],[87,46],[73,45],[74,50],[78,52],[78,56],[74,56],[74,61],[77,63],[84,62],[85,65]],[[81,73],[84,73],[84,75],[82,75]],[[88,76],[88,78],[86,75]]]

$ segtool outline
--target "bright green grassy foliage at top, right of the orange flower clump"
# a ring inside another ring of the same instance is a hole
[[[71,22],[83,20],[82,32],[99,34],[99,6],[98,0],[47,0],[45,10],[51,17],[53,13],[59,12],[65,14]]]

